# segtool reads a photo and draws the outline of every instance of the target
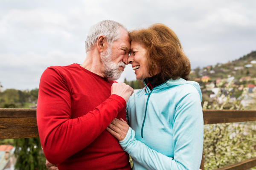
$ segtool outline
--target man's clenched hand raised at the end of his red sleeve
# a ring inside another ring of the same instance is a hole
[[[134,89],[129,85],[126,85],[123,82],[113,83],[111,87],[111,94],[116,94],[125,99],[126,103],[129,100],[129,97],[134,93]]]

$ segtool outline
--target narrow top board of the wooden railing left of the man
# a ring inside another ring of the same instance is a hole
[[[36,117],[36,109],[0,109],[0,117]]]

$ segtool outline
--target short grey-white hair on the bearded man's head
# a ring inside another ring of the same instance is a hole
[[[103,20],[96,23],[90,28],[88,36],[85,40],[85,52],[87,53],[94,45],[96,45],[100,35],[103,35],[107,42],[112,45],[115,40],[118,40],[121,37],[122,28],[127,31],[122,24],[116,21]]]

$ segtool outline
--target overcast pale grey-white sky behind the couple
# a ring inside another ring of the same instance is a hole
[[[52,65],[82,63],[93,24],[128,29],[163,23],[179,37],[192,68],[225,63],[256,50],[255,0],[0,0],[0,82],[38,88]],[[135,79],[131,66],[119,81]]]

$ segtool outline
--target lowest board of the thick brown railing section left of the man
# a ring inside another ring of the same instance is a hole
[[[14,139],[14,138],[32,138],[38,137],[38,128],[11,128],[11,129],[1,129],[0,139]]]

